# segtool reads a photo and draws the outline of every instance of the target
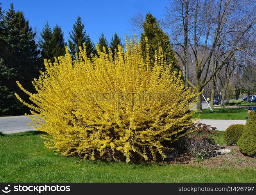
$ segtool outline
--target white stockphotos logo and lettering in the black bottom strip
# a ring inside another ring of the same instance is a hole
[[[5,186],[5,188],[2,190],[4,193],[9,193],[9,192],[49,192],[49,191],[54,191],[54,192],[61,192],[61,191],[70,191],[70,186],[65,186],[65,185],[14,185],[11,186],[11,184],[8,184]]]

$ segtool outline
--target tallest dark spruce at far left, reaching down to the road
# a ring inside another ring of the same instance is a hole
[[[20,93],[16,84],[17,80],[32,91],[31,80],[38,76],[39,51],[35,43],[36,33],[29,27],[29,21],[25,19],[23,12],[15,12],[13,4],[6,11],[3,23],[5,44],[4,50],[0,54],[2,60],[0,69],[1,80],[5,83],[5,87],[2,87],[1,90],[12,105],[6,104],[6,108],[1,108],[5,110],[2,115],[24,114],[24,112],[29,112],[29,109],[18,103],[13,93]],[[26,96],[22,96],[22,98],[27,99]]]

